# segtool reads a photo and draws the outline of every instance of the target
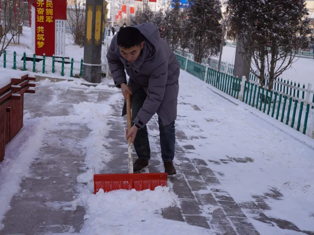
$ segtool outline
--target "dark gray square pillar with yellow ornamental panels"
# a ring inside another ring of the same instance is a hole
[[[104,0],[86,0],[85,43],[83,58],[84,80],[90,83],[101,81],[101,40],[104,22]]]

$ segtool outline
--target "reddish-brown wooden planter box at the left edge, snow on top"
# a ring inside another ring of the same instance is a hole
[[[0,75],[1,76],[1,75]],[[26,74],[11,78],[11,83],[0,87],[0,162],[5,154],[5,146],[16,136],[23,126],[24,93],[35,93],[35,77]]]

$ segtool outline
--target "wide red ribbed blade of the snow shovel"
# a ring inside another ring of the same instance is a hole
[[[103,189],[104,192],[119,189],[142,191],[146,189],[154,190],[157,186],[168,187],[167,173],[94,175],[94,194],[100,189]]]

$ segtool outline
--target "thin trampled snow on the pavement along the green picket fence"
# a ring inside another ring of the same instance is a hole
[[[274,126],[252,115],[247,106],[237,106],[210,91],[210,85],[181,71],[179,103],[196,104],[201,109],[196,115],[192,106],[179,105],[177,121],[190,139],[189,158],[219,162],[220,159],[246,158],[247,163],[211,164],[223,189],[237,203],[254,201],[252,195],[270,193],[274,187],[283,194],[282,200],[267,200],[273,209],[268,216],[286,219],[300,229],[314,230],[314,141],[307,136],[312,148],[279,131]],[[215,88],[213,88],[216,91]],[[226,95],[226,97],[228,97]],[[229,97],[228,97],[229,99]],[[260,112],[261,116],[267,116]],[[273,122],[278,122],[273,120]],[[197,126],[193,126],[195,124]],[[290,131],[289,126],[282,126]],[[190,129],[190,130],[189,130]],[[291,131],[290,131],[291,133]],[[301,133],[294,131],[299,137]],[[219,173],[219,174],[218,174]],[[246,214],[252,217],[250,214]],[[251,220],[261,234],[268,227]],[[277,231],[276,234],[288,234]],[[275,234],[275,233],[272,233]],[[291,234],[291,233],[289,233]]]

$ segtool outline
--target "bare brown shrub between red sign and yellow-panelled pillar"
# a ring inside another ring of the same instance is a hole
[[[73,5],[68,6],[67,22],[70,27],[68,34],[72,35],[74,45],[84,46],[85,32],[85,1],[73,0]]]

